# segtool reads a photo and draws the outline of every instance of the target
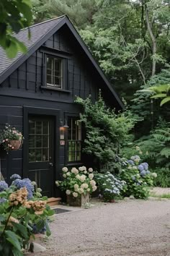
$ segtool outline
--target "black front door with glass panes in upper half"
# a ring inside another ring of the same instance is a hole
[[[53,197],[53,119],[29,116],[29,178]]]

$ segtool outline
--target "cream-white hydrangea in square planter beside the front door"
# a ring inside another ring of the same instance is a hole
[[[97,189],[94,181],[93,169],[86,169],[86,166],[78,168],[63,167],[63,181],[56,181],[55,184],[66,192],[68,204],[71,206],[82,206],[89,202],[89,195]]]

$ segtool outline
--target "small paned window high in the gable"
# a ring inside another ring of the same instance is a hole
[[[47,56],[47,86],[63,88],[62,59]]]

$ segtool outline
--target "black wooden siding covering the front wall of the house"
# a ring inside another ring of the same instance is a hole
[[[46,86],[47,54],[64,60],[64,88],[61,90]],[[102,89],[104,100],[109,106],[120,109],[119,103],[114,100],[110,89],[66,25],[50,36],[12,74],[9,74],[4,82],[1,82],[0,128],[3,128],[5,123],[9,123],[24,135],[23,148],[11,151],[9,154],[0,150],[1,173],[7,182],[10,183],[9,177],[12,174],[28,176],[28,115],[30,114],[50,116],[53,119],[53,181],[60,179],[61,168],[68,164],[67,145],[60,143],[60,120],[65,120],[68,116],[79,116],[81,106],[74,103],[75,96],[86,98],[91,95],[92,101],[95,101],[99,88]],[[55,196],[56,191],[52,194]]]

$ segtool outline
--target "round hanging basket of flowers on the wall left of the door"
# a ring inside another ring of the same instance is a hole
[[[5,128],[1,131],[0,144],[7,152],[10,150],[18,150],[24,137],[15,127],[11,127],[10,124],[6,124]]]

